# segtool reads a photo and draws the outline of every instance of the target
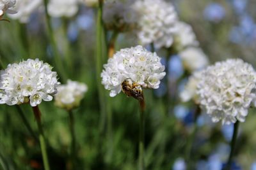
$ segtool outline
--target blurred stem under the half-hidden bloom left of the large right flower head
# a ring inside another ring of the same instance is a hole
[[[193,142],[195,140],[195,136],[196,136],[196,132],[197,132],[197,129],[198,129],[198,126],[196,124],[196,120],[198,118],[198,116],[200,115],[200,106],[196,106],[196,110],[195,110],[195,115],[194,115],[194,127],[193,127],[193,130],[189,136],[189,139],[188,139],[188,143],[186,145],[186,149],[185,149],[185,160],[188,164],[188,169],[190,169],[191,167],[191,150],[192,150],[192,146],[193,146]]]

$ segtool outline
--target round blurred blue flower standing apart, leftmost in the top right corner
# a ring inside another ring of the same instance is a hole
[[[219,3],[210,3],[204,10],[204,18],[211,22],[220,22],[225,15],[225,8],[223,8]]]

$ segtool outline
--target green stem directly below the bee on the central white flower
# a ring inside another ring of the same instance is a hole
[[[140,100],[140,142],[139,142],[139,170],[145,169],[144,138],[145,138],[145,101]]]

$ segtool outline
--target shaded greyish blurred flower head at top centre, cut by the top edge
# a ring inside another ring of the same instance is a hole
[[[103,20],[109,30],[129,31],[136,22],[136,13],[132,6],[134,0],[106,1],[103,9]]]

